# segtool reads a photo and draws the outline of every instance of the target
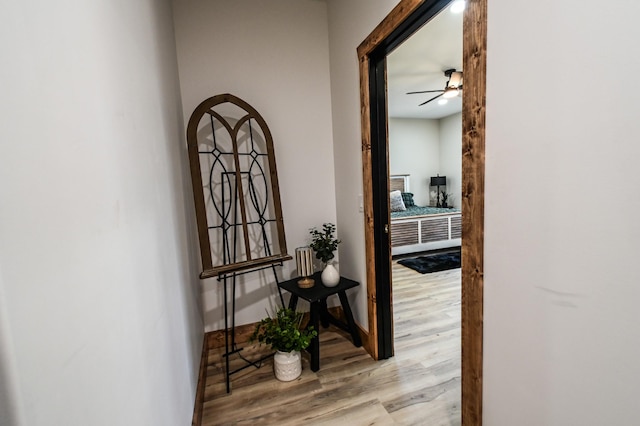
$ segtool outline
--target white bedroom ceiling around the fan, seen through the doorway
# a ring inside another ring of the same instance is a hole
[[[406,94],[444,89],[444,70],[462,70],[462,15],[447,7],[387,56],[389,117],[439,119],[462,111],[460,96],[418,106],[438,93]]]

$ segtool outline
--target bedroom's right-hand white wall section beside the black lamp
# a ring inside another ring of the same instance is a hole
[[[447,203],[460,208],[462,199],[462,114],[438,120],[440,130],[440,174],[447,177]]]

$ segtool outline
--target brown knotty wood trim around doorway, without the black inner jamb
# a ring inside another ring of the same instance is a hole
[[[363,204],[367,260],[368,348],[379,359],[378,290],[373,204],[370,57],[420,6],[437,0],[401,0],[358,46],[362,130]],[[487,0],[467,0],[463,18],[462,98],[462,423],[482,424],[482,327],[484,286],[484,169]],[[386,121],[386,120],[385,120]],[[386,124],[385,124],[386,128]],[[387,140],[383,141],[388,149]],[[375,147],[374,147],[375,148]],[[387,179],[388,182],[388,179]],[[387,222],[388,223],[388,222]],[[382,224],[378,225],[378,227]],[[388,249],[390,252],[390,248]],[[391,282],[391,277],[379,277]],[[385,300],[391,303],[390,299]],[[390,309],[390,306],[389,306]]]

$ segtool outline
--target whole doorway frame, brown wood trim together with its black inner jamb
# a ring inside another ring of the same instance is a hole
[[[376,359],[393,355],[385,57],[449,2],[403,0],[358,47],[368,343]],[[468,0],[463,18],[462,422],[473,425],[482,423],[486,3]]]

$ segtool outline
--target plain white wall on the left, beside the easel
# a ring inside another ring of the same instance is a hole
[[[0,17],[0,423],[188,424],[203,326],[169,3]]]

